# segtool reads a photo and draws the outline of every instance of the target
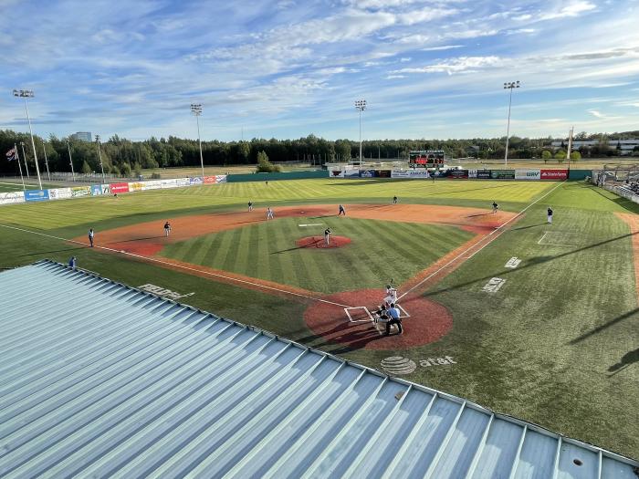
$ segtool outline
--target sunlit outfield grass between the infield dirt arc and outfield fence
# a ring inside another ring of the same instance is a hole
[[[244,208],[250,200],[256,207],[292,203],[433,203],[490,207],[497,201],[506,211],[520,211],[547,191],[551,182],[424,182],[420,180],[297,180],[287,182],[223,183],[173,190],[94,196],[35,204],[6,205],[0,222],[54,230],[81,224],[107,229],[122,224],[173,216]],[[73,202],[73,203],[68,203]],[[110,221],[112,220],[112,221]],[[105,222],[105,223],[102,223]],[[98,231],[98,230],[97,230]]]

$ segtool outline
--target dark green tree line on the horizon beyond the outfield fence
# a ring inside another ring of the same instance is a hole
[[[615,133],[610,138],[636,138],[639,131]],[[588,135],[579,133],[575,139],[596,140],[598,143],[581,151],[581,156],[613,156],[618,150],[609,148],[608,136],[601,134]],[[108,141],[98,144],[87,141],[77,141],[70,138],[58,138],[54,135],[47,139],[35,136],[37,158],[44,166],[45,152],[49,169],[52,172],[70,172],[71,161],[75,172],[101,172],[100,154],[104,172],[116,175],[131,176],[140,174],[142,169],[152,170],[174,166],[199,166],[200,151],[196,140],[188,140],[170,136],[160,140],[152,137],[145,141],[131,141],[112,136]],[[508,158],[528,159],[542,158],[552,151],[552,139],[530,139],[510,137]],[[18,146],[18,153],[22,158],[22,145],[26,161],[34,167],[33,149],[28,134],[13,130],[0,130],[0,149],[8,151],[14,144]],[[567,141],[566,141],[567,143]],[[398,158],[406,160],[408,152],[412,150],[443,150],[453,158],[473,156],[477,159],[503,158],[506,138],[466,139],[466,140],[371,140],[363,141],[362,156],[366,159]],[[611,141],[613,145],[613,142]],[[315,135],[309,135],[298,140],[257,139],[251,141],[203,141],[202,155],[205,165],[241,165],[256,164],[260,153],[272,162],[305,161],[316,165],[326,162],[350,161],[359,158],[360,144],[358,141],[336,140],[328,141]],[[564,148],[565,152],[565,148]],[[564,156],[565,157],[565,156]],[[259,157],[264,160],[264,157]],[[262,161],[263,162],[263,161]],[[23,163],[24,164],[24,163]],[[15,162],[0,161],[0,173],[16,174]]]

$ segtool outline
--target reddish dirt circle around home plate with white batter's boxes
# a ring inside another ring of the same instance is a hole
[[[308,307],[304,321],[315,334],[347,349],[414,348],[444,337],[453,327],[453,317],[446,307],[425,297],[403,297],[398,304],[410,315],[402,318],[403,334],[395,334],[393,327],[390,336],[383,336],[385,325],[373,324],[363,307],[372,314],[384,296],[383,289],[363,289],[323,297],[327,302]],[[344,307],[351,307],[351,319]]]

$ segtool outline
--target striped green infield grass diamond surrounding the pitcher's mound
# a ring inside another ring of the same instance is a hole
[[[299,224],[318,224],[314,228]],[[298,248],[303,236],[333,234],[351,238],[339,249]],[[402,284],[474,236],[435,224],[397,224],[346,217],[281,218],[167,245],[162,255],[194,265],[337,293]],[[355,287],[355,285],[357,287]]]

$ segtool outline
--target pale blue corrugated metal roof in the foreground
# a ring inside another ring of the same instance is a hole
[[[636,479],[616,454],[66,266],[0,274],[0,305],[3,477]]]

